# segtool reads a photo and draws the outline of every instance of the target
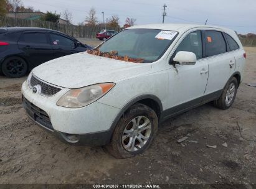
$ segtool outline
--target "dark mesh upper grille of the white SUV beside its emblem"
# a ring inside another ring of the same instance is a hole
[[[57,88],[55,86],[44,83],[44,81],[40,81],[34,75],[31,76],[30,85],[32,87],[36,86],[36,85],[40,85],[41,86],[41,94],[43,94],[45,96],[52,96],[61,90],[61,88]]]

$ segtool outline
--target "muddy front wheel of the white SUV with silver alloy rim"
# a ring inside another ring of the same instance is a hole
[[[137,122],[138,124],[136,124]],[[145,127],[142,127],[143,124],[145,124]],[[145,130],[143,131],[141,128]],[[120,118],[116,124],[110,144],[106,148],[117,159],[133,157],[148,149],[157,131],[158,117],[156,113],[148,106],[136,103]]]

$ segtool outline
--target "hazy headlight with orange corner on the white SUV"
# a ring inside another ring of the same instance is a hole
[[[100,83],[70,90],[57,101],[57,106],[67,108],[81,108],[87,106],[108,93],[114,86],[115,83]]]

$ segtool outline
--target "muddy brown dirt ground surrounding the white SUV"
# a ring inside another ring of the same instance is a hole
[[[144,154],[123,160],[103,147],[64,144],[40,129],[22,108],[26,78],[0,76],[0,183],[244,183],[250,188],[256,184],[256,88],[246,83],[256,82],[256,48],[245,50],[244,83],[232,108],[209,103],[168,119]],[[240,136],[237,121],[242,136],[252,141]]]

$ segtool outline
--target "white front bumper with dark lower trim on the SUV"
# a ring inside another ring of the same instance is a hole
[[[110,127],[118,108],[102,103],[92,103],[83,108],[64,108],[56,105],[65,93],[54,96],[32,93],[26,81],[22,85],[22,101],[27,116],[40,127],[47,129],[62,141],[75,145],[105,145],[111,138]],[[70,136],[77,140],[70,140]]]

